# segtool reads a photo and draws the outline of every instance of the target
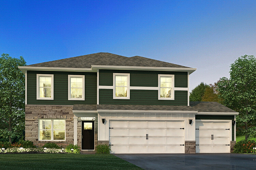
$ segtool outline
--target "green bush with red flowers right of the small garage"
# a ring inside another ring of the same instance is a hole
[[[234,146],[234,153],[253,153],[254,147],[256,147],[254,140],[240,140]]]

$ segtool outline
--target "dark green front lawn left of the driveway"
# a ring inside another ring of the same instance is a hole
[[[141,169],[111,154],[0,154],[0,169]]]

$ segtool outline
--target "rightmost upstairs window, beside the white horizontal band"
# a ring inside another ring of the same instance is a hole
[[[158,74],[158,100],[174,100],[174,75]]]

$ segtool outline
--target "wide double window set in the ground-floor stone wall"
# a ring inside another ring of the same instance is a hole
[[[64,119],[39,119],[39,140],[65,140]]]

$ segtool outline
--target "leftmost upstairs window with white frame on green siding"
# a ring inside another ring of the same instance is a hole
[[[53,74],[37,74],[37,100],[53,100]]]

